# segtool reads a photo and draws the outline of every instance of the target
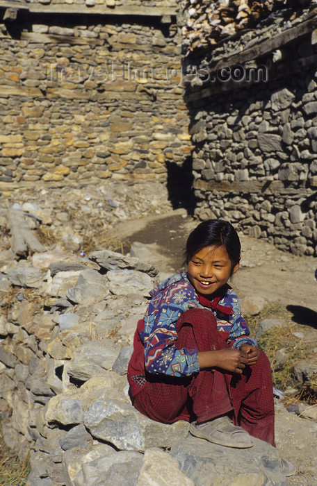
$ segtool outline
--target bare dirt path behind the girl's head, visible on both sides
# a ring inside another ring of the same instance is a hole
[[[169,215],[125,221],[115,227],[117,237],[127,242],[152,244],[156,259],[154,265],[165,273],[184,269],[184,246],[188,233],[199,221],[190,218],[184,210]],[[284,253],[264,240],[241,235],[241,267],[231,281],[238,295],[261,296],[268,302],[294,312],[302,313],[300,324],[317,325],[317,282],[314,257]]]

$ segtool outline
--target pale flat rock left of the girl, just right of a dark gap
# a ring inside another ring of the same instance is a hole
[[[75,349],[67,373],[86,381],[100,371],[111,369],[120,351],[113,339],[90,341]]]

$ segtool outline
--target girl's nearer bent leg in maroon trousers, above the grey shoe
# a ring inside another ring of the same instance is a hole
[[[210,310],[184,312],[177,323],[177,335],[177,349],[210,351],[228,347]],[[188,378],[147,375],[147,384],[136,395],[134,406],[147,417],[168,424],[181,419],[208,421],[232,410],[230,378],[217,370],[202,370]]]

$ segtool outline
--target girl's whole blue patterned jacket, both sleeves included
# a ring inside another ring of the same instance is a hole
[[[145,369],[152,374],[171,376],[190,376],[200,371],[197,349],[176,349],[174,346],[177,341],[177,320],[181,314],[190,308],[205,308],[198,301],[187,274],[167,278],[156,285],[150,294],[152,300],[144,318],[144,335],[140,335],[144,343]],[[248,337],[250,331],[241,315],[238,297],[229,285],[225,286],[219,304],[233,311],[232,315],[225,316],[210,309],[216,316],[218,330],[229,333],[229,346],[239,348],[245,342],[257,345]]]

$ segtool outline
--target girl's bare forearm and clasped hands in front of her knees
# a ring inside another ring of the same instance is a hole
[[[220,368],[230,373],[241,374],[248,364],[247,354],[240,349],[225,348],[218,351],[200,351],[198,353],[200,369]]]

